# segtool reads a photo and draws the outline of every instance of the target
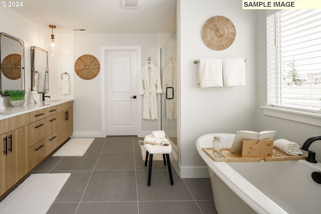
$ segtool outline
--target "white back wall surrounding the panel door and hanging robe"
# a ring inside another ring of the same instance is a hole
[[[101,46],[141,46],[141,65],[151,58],[158,65],[159,45],[168,34],[74,34],[74,61],[84,54],[95,56],[101,63]],[[104,137],[101,126],[101,72],[92,80],[75,75],[73,137]],[[139,96],[139,95],[137,95]],[[159,97],[160,98],[160,97]],[[160,99],[158,99],[159,101]],[[158,108],[160,105],[158,102]],[[160,117],[159,117],[160,118]],[[140,118],[141,119],[141,118]],[[150,133],[160,127],[159,120],[142,120],[142,130]]]

